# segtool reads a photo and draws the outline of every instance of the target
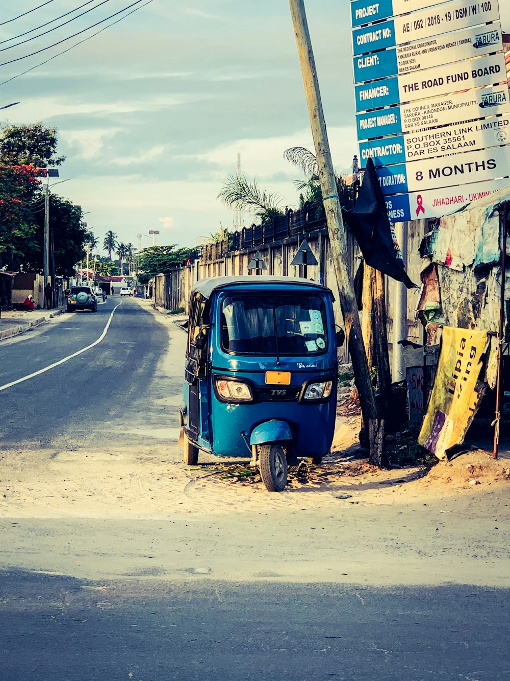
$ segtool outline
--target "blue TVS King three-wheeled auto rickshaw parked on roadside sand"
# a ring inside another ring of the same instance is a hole
[[[297,457],[330,450],[337,406],[333,294],[307,279],[220,276],[190,298],[180,425],[184,461],[199,451],[251,457],[270,492]]]

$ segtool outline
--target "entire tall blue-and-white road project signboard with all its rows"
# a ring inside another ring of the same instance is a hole
[[[360,167],[375,162],[390,220],[441,217],[507,187],[498,0],[352,0],[351,11]]]

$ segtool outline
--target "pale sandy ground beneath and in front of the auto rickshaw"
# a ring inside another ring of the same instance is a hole
[[[171,338],[156,376],[180,381],[184,333],[154,315]],[[154,443],[148,428],[143,446],[0,452],[0,567],[88,579],[509,586],[510,460],[469,452],[430,471],[377,471],[346,460],[359,417],[343,414],[333,453],[306,475],[294,471],[280,494],[246,461],[184,466],[174,422]]]

